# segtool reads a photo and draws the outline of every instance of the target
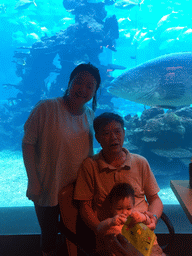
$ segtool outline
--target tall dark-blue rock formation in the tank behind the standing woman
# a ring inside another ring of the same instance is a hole
[[[99,61],[103,47],[116,51],[115,39],[119,37],[117,19],[115,15],[106,18],[105,4],[64,0],[63,5],[75,15],[75,24],[54,36],[42,37],[31,47],[20,47],[14,53],[16,75],[21,81],[17,85],[9,84],[19,93],[16,98],[9,98],[9,105],[5,106],[6,118],[0,123],[0,149],[6,149],[8,145],[13,150],[20,149],[23,124],[34,105],[41,99],[62,96],[76,65],[91,62],[97,66],[103,84],[113,79],[109,70],[124,69],[104,66]],[[49,77],[53,74],[55,79],[50,82]]]

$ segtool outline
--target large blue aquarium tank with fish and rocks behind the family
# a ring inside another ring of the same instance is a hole
[[[188,179],[192,155],[191,7],[189,0],[1,1],[0,207],[33,205],[24,123],[88,62],[102,79],[95,115],[124,117],[124,146],[147,158],[163,204],[178,204],[170,180]]]

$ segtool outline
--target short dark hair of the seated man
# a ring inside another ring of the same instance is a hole
[[[95,134],[98,134],[101,128],[105,127],[108,123],[111,123],[112,121],[116,121],[120,123],[122,129],[124,129],[124,120],[120,115],[112,112],[105,112],[97,116],[93,121],[93,128],[94,128]]]

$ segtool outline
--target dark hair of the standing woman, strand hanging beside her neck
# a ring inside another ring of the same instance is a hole
[[[95,80],[97,81],[97,86],[96,86],[96,91],[95,91],[95,95],[93,96],[93,102],[92,102],[92,109],[95,111],[96,107],[97,107],[97,99],[96,99],[96,92],[99,89],[100,83],[101,83],[101,76],[99,73],[99,69],[96,68],[95,66],[93,66],[90,62],[89,63],[82,63],[79,64],[76,68],[74,68],[74,70],[71,72],[71,75],[69,77],[69,83],[73,80],[73,78],[79,74],[80,72],[83,71],[87,71],[89,72],[91,75],[94,76]],[[65,95],[67,94],[67,92],[65,92]],[[64,95],[64,96],[65,96]]]

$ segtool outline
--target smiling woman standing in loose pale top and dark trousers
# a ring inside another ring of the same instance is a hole
[[[100,82],[96,67],[80,64],[70,75],[65,95],[40,101],[24,126],[27,197],[35,204],[43,255],[56,255],[58,193],[76,180],[81,162],[93,152],[93,110]],[[92,98],[93,110],[86,106]]]

